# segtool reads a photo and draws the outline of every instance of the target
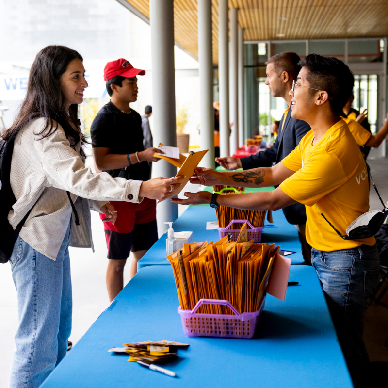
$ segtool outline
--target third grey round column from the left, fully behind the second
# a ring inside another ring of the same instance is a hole
[[[220,99],[220,156],[229,156],[228,4],[218,1],[218,90]]]

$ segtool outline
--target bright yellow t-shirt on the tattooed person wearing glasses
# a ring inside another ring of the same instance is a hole
[[[313,139],[310,130],[282,160],[295,173],[280,184],[284,193],[306,205],[307,242],[321,251],[373,245],[374,237],[343,240],[317,210],[342,235],[369,210],[368,172],[354,137],[346,123],[339,120],[314,146]]]

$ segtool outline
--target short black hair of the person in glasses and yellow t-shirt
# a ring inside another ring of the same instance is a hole
[[[306,79],[311,87],[324,90],[329,95],[329,104],[335,114],[341,114],[342,108],[352,96],[355,79],[347,65],[334,57],[318,54],[307,55],[299,62],[306,67]],[[310,89],[311,93],[315,93]]]

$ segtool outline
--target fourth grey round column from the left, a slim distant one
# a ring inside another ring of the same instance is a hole
[[[233,123],[230,134],[230,154],[239,147],[239,99],[238,99],[238,21],[237,8],[230,10],[229,52],[229,122]]]

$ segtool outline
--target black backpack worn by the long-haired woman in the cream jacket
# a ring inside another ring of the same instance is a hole
[[[3,141],[0,146],[0,263],[6,263],[12,254],[17,236],[24,223],[27,220],[32,208],[27,212],[24,218],[17,224],[16,229],[8,222],[8,213],[16,202],[16,197],[12,191],[10,176],[11,176],[11,161],[14,151],[16,134],[8,140]],[[80,225],[77,210],[73,201],[70,198],[70,193],[66,192],[73,209],[75,223]]]

